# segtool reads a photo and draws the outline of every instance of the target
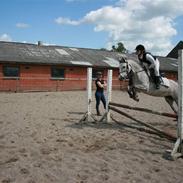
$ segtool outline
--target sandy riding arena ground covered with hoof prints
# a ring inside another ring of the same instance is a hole
[[[171,112],[163,98],[144,94],[137,103],[127,93],[113,91],[113,101]],[[95,100],[92,106],[96,114]],[[0,182],[183,182],[183,160],[163,158],[173,142],[115,113],[122,125],[77,124],[86,108],[85,91],[0,93]],[[127,112],[162,130],[176,131],[171,118]]]

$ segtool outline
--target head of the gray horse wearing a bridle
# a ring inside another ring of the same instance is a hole
[[[129,65],[126,58],[121,57],[119,59],[119,80],[125,80],[128,78]]]

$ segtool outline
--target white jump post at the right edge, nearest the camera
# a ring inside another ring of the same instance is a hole
[[[178,58],[178,128],[177,128],[177,141],[171,152],[171,157],[176,159],[183,156],[183,50],[179,50]]]

